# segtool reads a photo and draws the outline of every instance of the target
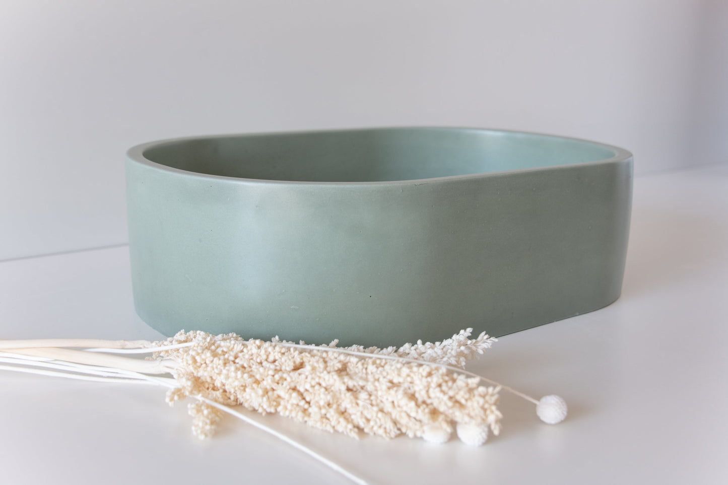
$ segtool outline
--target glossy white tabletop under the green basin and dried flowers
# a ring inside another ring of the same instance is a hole
[[[132,309],[126,248],[0,263],[4,338],[154,339]],[[502,398],[480,448],[355,441],[263,417],[376,484],[728,483],[728,165],[637,178],[622,297],[502,337],[471,370],[537,398]],[[344,484],[234,419],[193,438],[164,390],[0,373],[3,484]]]

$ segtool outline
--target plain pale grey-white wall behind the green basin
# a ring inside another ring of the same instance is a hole
[[[638,173],[726,161],[725,4],[4,0],[0,260],[126,242],[124,151],[171,136],[501,127]]]

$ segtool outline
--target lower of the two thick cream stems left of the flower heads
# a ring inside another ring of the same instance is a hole
[[[13,349],[12,353],[66,360],[67,362],[91,366],[122,368],[125,371],[139,372],[141,374],[169,374],[177,366],[175,360],[172,359],[141,360],[71,349]]]

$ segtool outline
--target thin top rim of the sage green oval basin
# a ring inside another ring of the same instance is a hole
[[[144,152],[151,148],[157,148],[160,146],[170,145],[173,143],[179,143],[181,141],[191,140],[214,140],[217,138],[230,138],[230,137],[247,137],[247,136],[274,136],[274,135],[306,135],[308,133],[341,133],[341,132],[354,132],[354,131],[382,131],[382,130],[453,130],[461,132],[488,132],[496,133],[500,135],[530,135],[543,138],[555,138],[558,140],[568,141],[579,141],[582,143],[590,143],[591,145],[598,146],[603,149],[608,149],[614,152],[613,157],[591,160],[589,162],[576,162],[566,163],[560,165],[547,165],[545,167],[529,167],[529,168],[515,168],[513,170],[497,170],[494,172],[480,172],[480,173],[467,173],[462,175],[454,176],[442,176],[432,178],[408,178],[406,180],[392,180],[392,181],[285,181],[285,180],[269,180],[264,178],[242,178],[242,177],[230,177],[220,176],[211,173],[193,172],[191,170],[181,170],[179,168],[170,167],[162,163],[153,162],[152,160],[144,157]],[[132,146],[126,152],[127,160],[135,162],[140,165],[146,165],[162,172],[169,172],[182,176],[190,176],[194,178],[201,178],[203,180],[214,180],[223,181],[236,184],[266,184],[266,185],[306,185],[306,186],[383,186],[383,185],[408,185],[408,184],[431,184],[437,182],[448,182],[457,181],[462,179],[478,179],[495,176],[505,176],[512,173],[526,173],[526,172],[539,172],[542,170],[561,170],[571,167],[585,167],[590,165],[605,165],[619,162],[632,162],[633,154],[619,146],[608,145],[606,143],[600,143],[598,141],[585,140],[583,138],[574,138],[569,136],[561,135],[550,135],[546,133],[535,133],[529,131],[520,130],[501,130],[496,128],[472,128],[472,127],[446,127],[446,126],[392,126],[392,127],[354,127],[354,128],[336,128],[331,130],[317,129],[317,130],[287,130],[287,131],[265,131],[265,132],[250,132],[250,133],[224,133],[217,135],[191,135],[181,136],[177,138],[165,138],[163,140],[149,141],[146,143],[140,143]]]

